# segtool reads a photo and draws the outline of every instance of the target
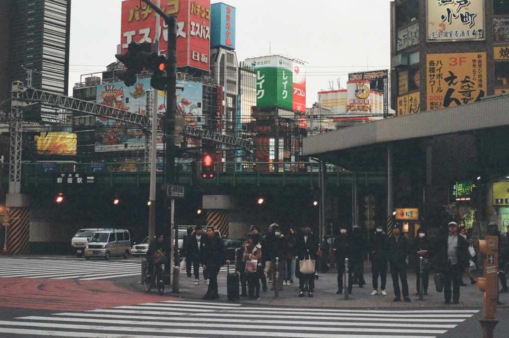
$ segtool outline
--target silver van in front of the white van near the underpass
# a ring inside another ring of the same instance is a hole
[[[90,257],[129,257],[131,250],[131,237],[129,231],[124,229],[97,230],[90,236],[85,245],[85,259]]]

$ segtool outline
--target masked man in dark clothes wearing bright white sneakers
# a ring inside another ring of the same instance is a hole
[[[385,284],[387,282],[387,252],[385,252],[387,233],[381,225],[377,225],[370,237],[371,272],[373,281],[372,296],[378,293],[378,275],[380,275],[380,293],[386,296]]]

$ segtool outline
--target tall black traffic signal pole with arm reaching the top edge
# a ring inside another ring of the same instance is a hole
[[[168,46],[166,50],[166,113],[164,114],[164,183],[175,183],[175,115],[176,115],[176,84],[177,84],[177,17],[168,16],[150,0],[143,0],[154,12],[159,14],[168,26]],[[159,22],[158,22],[159,24]],[[172,198],[173,199],[173,198]],[[168,205],[168,198],[165,198],[164,224],[168,218],[171,220],[171,228],[175,230],[175,243],[177,243],[177,229],[174,224],[175,200]],[[171,217],[168,217],[168,209],[171,208]],[[170,236],[171,240],[171,236]],[[174,246],[174,274],[173,292],[178,293],[178,248]],[[175,269],[175,267],[177,269]],[[177,270],[177,273],[175,273]]]

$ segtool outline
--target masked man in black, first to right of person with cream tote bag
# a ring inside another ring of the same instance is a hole
[[[345,258],[348,258],[348,293],[352,293],[353,287],[353,244],[352,238],[345,225],[340,226],[340,236],[334,239],[334,251],[336,255],[337,266],[337,292],[336,295],[343,293],[343,275],[345,274]]]

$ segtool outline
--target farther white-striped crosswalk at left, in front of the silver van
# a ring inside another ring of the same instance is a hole
[[[222,267],[221,271],[226,271]],[[201,274],[202,268],[200,268]],[[139,259],[111,259],[109,261],[83,258],[18,258],[2,257],[0,276],[21,278],[54,278],[99,280],[107,278],[139,276]]]

